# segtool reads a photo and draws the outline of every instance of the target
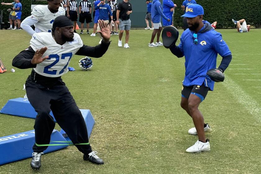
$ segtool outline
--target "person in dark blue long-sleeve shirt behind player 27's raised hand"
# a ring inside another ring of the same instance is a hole
[[[110,14],[110,18],[112,20],[111,22],[114,24],[111,7],[108,4],[105,3],[105,0],[101,0],[101,2],[98,3],[98,5],[94,7],[94,9],[95,10],[99,9],[99,20],[103,20],[106,24],[108,24],[109,23],[108,14]],[[101,28],[100,28],[100,25],[98,24],[97,31],[100,31],[100,30],[101,30]],[[99,44],[101,44],[103,37],[100,34],[99,34],[99,36],[100,36]]]

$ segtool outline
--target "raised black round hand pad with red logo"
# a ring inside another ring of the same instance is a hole
[[[179,31],[173,26],[166,26],[162,30],[162,41],[165,48],[169,48],[172,44],[175,44],[178,37]]]

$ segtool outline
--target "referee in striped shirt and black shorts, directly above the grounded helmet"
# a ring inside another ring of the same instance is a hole
[[[80,34],[83,34],[83,25],[85,21],[87,25],[86,33],[89,34],[89,25],[90,25],[89,23],[92,22],[91,12],[92,12],[91,2],[89,0],[81,0],[79,3],[79,13],[80,13],[79,22],[81,23]]]

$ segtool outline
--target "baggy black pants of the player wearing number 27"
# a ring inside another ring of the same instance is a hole
[[[77,107],[68,88],[60,77],[52,78],[41,76],[32,71],[25,82],[25,89],[30,104],[37,112],[35,118],[35,143],[49,144],[55,122],[66,132],[73,144],[88,143],[87,128],[84,118]],[[34,152],[40,153],[48,146],[36,146]],[[90,153],[90,145],[76,145],[80,152]]]

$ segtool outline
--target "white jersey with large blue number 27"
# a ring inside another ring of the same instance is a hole
[[[59,45],[53,39],[52,33],[35,33],[30,40],[30,46],[34,51],[47,47],[42,57],[49,56],[49,58],[37,64],[34,71],[47,77],[59,77],[68,72],[71,57],[83,46],[79,34],[74,33],[73,39],[71,42]]]

